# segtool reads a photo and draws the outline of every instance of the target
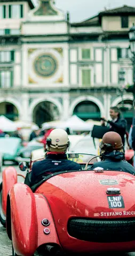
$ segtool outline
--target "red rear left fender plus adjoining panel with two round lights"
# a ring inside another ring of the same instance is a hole
[[[17,254],[31,256],[44,243],[60,245],[50,207],[42,194],[33,193],[27,185],[18,183],[9,195],[12,243]],[[43,219],[50,220],[50,235],[44,234]]]

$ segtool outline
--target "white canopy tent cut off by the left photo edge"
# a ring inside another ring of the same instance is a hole
[[[17,130],[17,125],[5,116],[0,116],[0,130],[3,132],[14,132]]]

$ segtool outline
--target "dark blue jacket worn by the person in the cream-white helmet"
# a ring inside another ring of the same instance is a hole
[[[59,171],[82,170],[81,165],[67,159],[66,154],[49,154],[46,159],[37,161],[31,170],[31,183],[35,184],[43,179],[43,176]]]

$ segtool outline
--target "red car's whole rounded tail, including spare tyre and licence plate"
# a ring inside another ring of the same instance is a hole
[[[112,187],[120,189],[120,194],[107,194]],[[63,249],[135,250],[134,176],[116,171],[77,171],[52,177],[36,193],[44,194],[50,205]]]

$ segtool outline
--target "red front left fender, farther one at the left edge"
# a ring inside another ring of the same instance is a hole
[[[14,167],[5,168],[2,172],[2,208],[5,215],[7,194],[15,183],[17,183],[17,171]]]

